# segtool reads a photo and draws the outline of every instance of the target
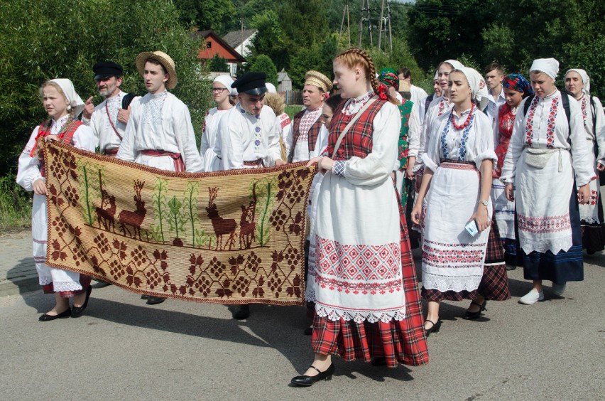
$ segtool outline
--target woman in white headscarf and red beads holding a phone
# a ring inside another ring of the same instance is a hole
[[[491,172],[497,157],[491,120],[481,112],[488,100],[485,81],[472,68],[457,68],[449,74],[449,99],[452,110],[435,120],[430,133],[412,210],[414,223],[420,224],[426,196],[422,295],[428,300],[427,334],[440,329],[443,300],[471,299],[465,317],[476,319],[486,299],[510,298],[498,236],[490,238],[495,243],[488,252]],[[467,229],[469,223],[475,232]],[[486,258],[488,253],[497,255]]]

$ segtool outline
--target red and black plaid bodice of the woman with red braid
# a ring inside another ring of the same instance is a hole
[[[332,123],[330,124],[327,152],[328,156],[334,160],[349,160],[353,156],[364,159],[372,151],[373,124],[376,113],[380,111],[386,100],[377,99],[363,114],[354,122],[349,132],[344,135],[337,153],[332,157],[334,145],[340,136],[340,133],[347,127],[347,124],[355,114],[345,115],[342,111],[346,102],[343,102],[334,111]]]

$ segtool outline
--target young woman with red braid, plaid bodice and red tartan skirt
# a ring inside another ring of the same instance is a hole
[[[314,239],[315,359],[292,379],[303,386],[332,378],[332,354],[392,368],[428,362],[405,215],[393,181],[399,111],[364,50],[337,55],[334,75],[347,101],[334,112],[324,156],[309,162],[325,176]]]

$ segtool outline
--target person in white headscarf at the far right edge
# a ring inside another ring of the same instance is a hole
[[[590,78],[574,68],[565,73],[565,89],[578,101],[584,119],[584,133],[594,172],[605,170],[605,115],[598,97],[590,95]],[[590,201],[579,205],[582,247],[589,255],[605,249],[605,222],[599,179],[590,181]]]

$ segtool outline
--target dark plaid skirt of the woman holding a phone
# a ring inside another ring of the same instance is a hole
[[[490,301],[506,301],[511,299],[508,290],[508,276],[506,275],[506,262],[504,261],[504,248],[498,231],[498,225],[494,217],[491,219],[491,230],[487,238],[487,249],[483,267],[483,276],[479,282],[479,288],[474,291],[446,291],[438,289],[422,290],[423,298],[427,301],[462,301],[464,299],[476,299],[478,295]]]

